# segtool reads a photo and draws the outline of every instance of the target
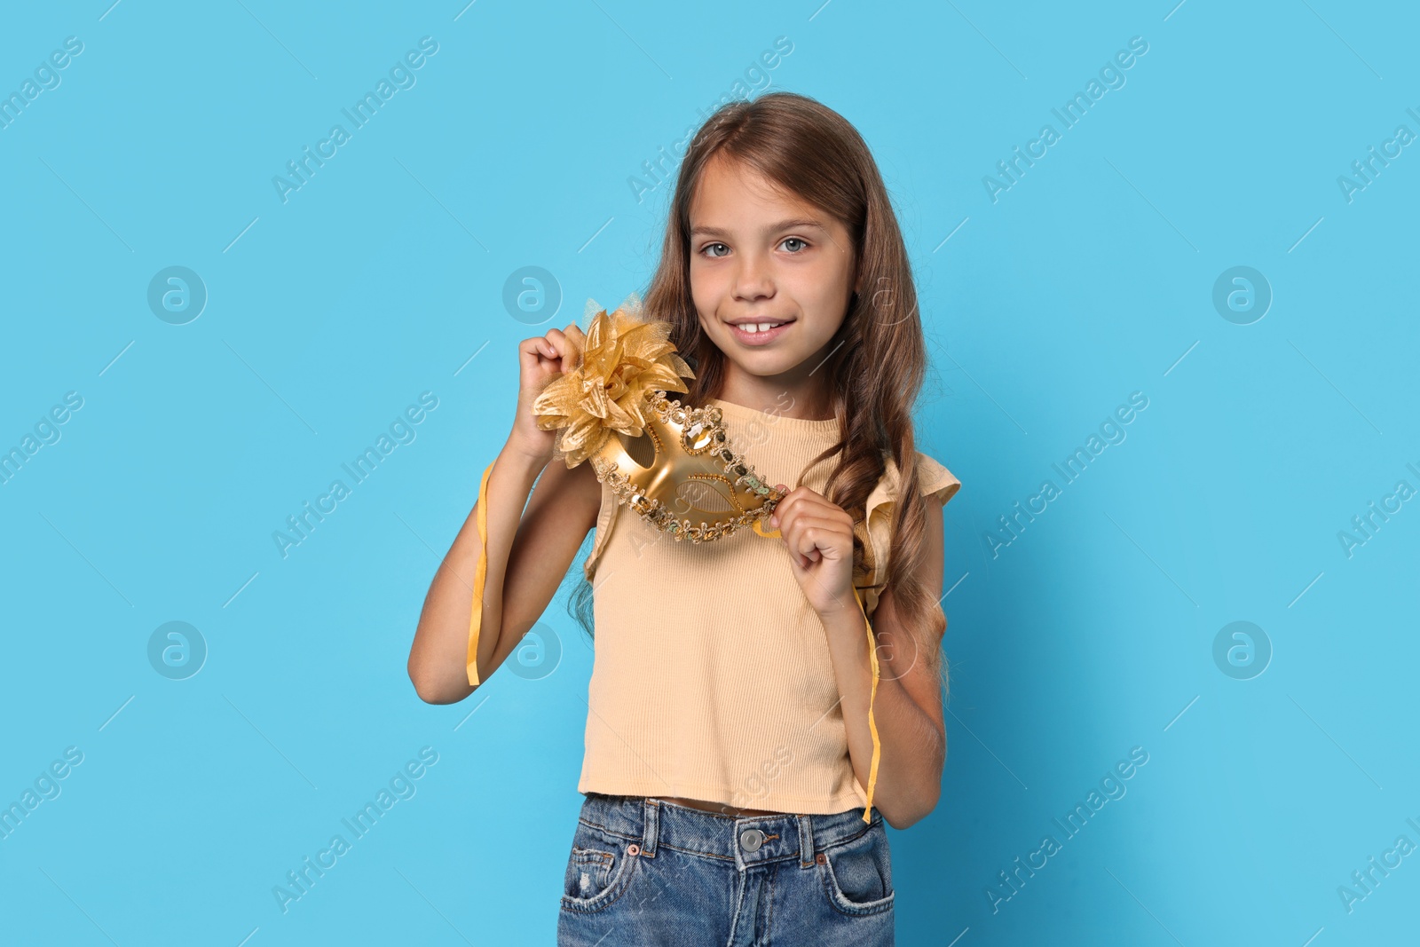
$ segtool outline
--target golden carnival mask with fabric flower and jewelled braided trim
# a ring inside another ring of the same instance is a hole
[[[588,302],[588,314],[595,308]],[[557,430],[568,469],[591,460],[596,478],[656,530],[707,542],[760,527],[784,493],[733,451],[719,407],[686,407],[694,372],[670,342],[670,322],[643,319],[632,294],[598,310],[575,368],[532,402],[537,426]]]

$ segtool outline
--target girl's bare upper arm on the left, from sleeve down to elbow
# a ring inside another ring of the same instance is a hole
[[[542,469],[513,538],[503,579],[503,629],[493,667],[547,611],[586,534],[596,525],[602,484],[592,464],[571,470],[554,457]],[[491,670],[490,670],[491,673]]]

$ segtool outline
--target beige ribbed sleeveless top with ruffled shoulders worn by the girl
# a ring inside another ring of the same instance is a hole
[[[804,420],[711,399],[733,450],[767,483],[794,487],[839,440],[838,420]],[[804,484],[824,493],[836,456]],[[950,470],[917,454],[924,494],[946,503]],[[868,582],[880,582],[897,469],[866,504]],[[768,525],[765,525],[768,528]],[[743,530],[677,542],[616,503],[602,507],[586,578],[595,655],[579,792],[684,797],[740,809],[832,814],[862,808],[824,623],[781,540]],[[880,589],[861,588],[869,618]],[[866,647],[866,640],[863,647]]]

